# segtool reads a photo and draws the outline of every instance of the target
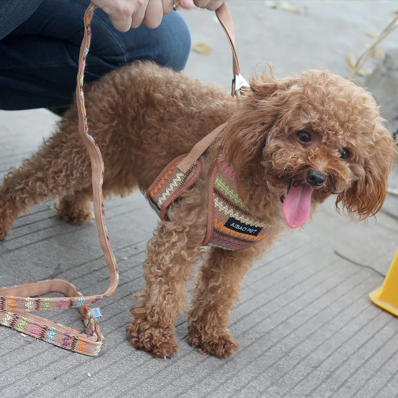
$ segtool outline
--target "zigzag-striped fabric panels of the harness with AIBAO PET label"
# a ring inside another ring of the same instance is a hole
[[[190,188],[200,175],[200,160],[189,163],[185,171],[182,163],[185,159],[187,155],[182,155],[169,163],[147,191],[149,202],[162,220],[167,216],[168,206]],[[265,238],[267,228],[270,226],[254,217],[239,197],[236,173],[232,166],[219,158],[210,177],[203,246],[243,250]]]

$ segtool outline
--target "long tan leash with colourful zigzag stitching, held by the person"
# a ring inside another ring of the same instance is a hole
[[[84,15],[85,33],[79,55],[76,102],[79,112],[79,133],[86,145],[91,162],[95,219],[101,249],[109,270],[109,287],[103,294],[97,296],[83,296],[71,283],[62,279],[52,279],[0,289],[1,325],[10,327],[21,333],[26,333],[32,337],[44,340],[64,349],[90,356],[96,356],[99,354],[104,341],[98,322],[98,319],[102,317],[100,308],[91,308],[90,304],[110,296],[116,289],[119,279],[116,259],[112,252],[108,230],[105,223],[105,211],[102,196],[104,165],[100,148],[96,145],[94,138],[89,134],[83,91],[86,58],[89,53],[92,36],[91,20],[95,8],[96,6],[91,3]],[[235,49],[232,18],[225,3],[217,9],[216,15],[232,48],[234,76],[232,80],[232,96],[236,96],[240,89],[244,86],[248,86],[248,84],[239,73],[239,61]],[[179,165],[180,168],[188,167],[189,169],[189,165],[199,158],[201,153],[222,131],[223,127],[224,124],[217,127],[199,141],[199,143],[194,146],[190,154],[183,162],[181,162],[181,165]],[[51,292],[61,293],[65,295],[65,297],[37,297]],[[86,327],[86,333],[80,333],[75,329],[31,313],[44,309],[65,309],[74,307],[78,308],[82,315],[82,321]]]

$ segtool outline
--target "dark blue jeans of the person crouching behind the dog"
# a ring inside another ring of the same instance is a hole
[[[0,0],[0,109],[67,106],[72,102],[90,0]],[[175,11],[161,25],[117,31],[96,9],[85,82],[135,60],[184,69],[191,37]]]

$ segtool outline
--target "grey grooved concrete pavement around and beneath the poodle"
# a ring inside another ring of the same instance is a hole
[[[269,61],[280,77],[310,68],[346,76],[346,55],[359,54],[370,41],[366,31],[380,30],[398,8],[393,0],[292,3],[307,7],[307,15],[270,9],[262,0],[229,1],[246,74]],[[220,26],[206,11],[183,14],[193,42],[206,41],[213,50],[192,53],[187,73],[227,87],[230,53]],[[381,48],[393,48],[397,38]],[[35,150],[56,120],[44,109],[0,111],[0,177]],[[398,186],[394,175],[391,184]],[[59,277],[84,294],[104,291],[107,270],[95,224],[65,224],[52,206],[48,201],[20,216],[0,244],[0,286]],[[101,303],[106,344],[100,356],[73,354],[1,327],[0,397],[396,397],[398,320],[368,298],[383,278],[352,261],[387,273],[398,246],[397,208],[398,199],[389,197],[377,222],[365,226],[326,203],[304,231],[282,238],[247,275],[229,324],[240,343],[236,355],[199,355],[186,341],[182,315],[180,353],[160,360],[132,349],[124,332],[157,217],[139,194],[108,200],[120,284]],[[81,328],[77,311],[46,315]]]

